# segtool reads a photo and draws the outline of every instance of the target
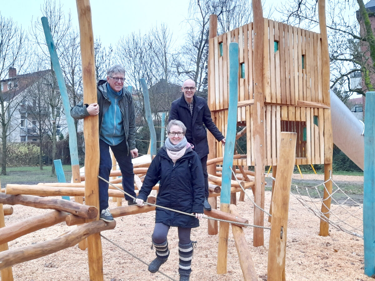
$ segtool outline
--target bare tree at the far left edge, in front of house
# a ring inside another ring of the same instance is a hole
[[[19,123],[14,122],[13,115],[17,111],[18,105],[22,102],[22,93],[19,90],[16,73],[6,79],[9,69],[20,72],[28,62],[27,36],[11,18],[4,18],[0,13],[0,125],[1,125],[1,174],[6,175],[6,143],[7,137],[19,127]],[[9,86],[9,90],[3,92],[3,88]],[[17,124],[18,123],[18,124]],[[13,126],[12,126],[13,125]]]

